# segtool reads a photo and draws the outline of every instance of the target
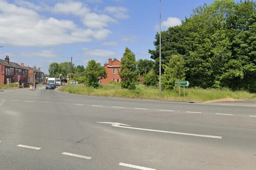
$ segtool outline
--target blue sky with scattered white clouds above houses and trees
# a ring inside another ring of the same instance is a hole
[[[162,0],[162,30],[213,0]],[[103,65],[125,47],[150,59],[159,32],[159,0],[0,0],[0,58],[48,72],[52,62]]]

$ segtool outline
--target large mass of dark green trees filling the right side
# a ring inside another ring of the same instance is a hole
[[[158,74],[159,33],[154,45],[149,53]],[[199,6],[180,26],[161,33],[161,49],[163,66],[172,55],[183,56],[191,86],[256,91],[256,2],[215,0]]]

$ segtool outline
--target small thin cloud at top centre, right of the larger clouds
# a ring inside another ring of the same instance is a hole
[[[128,18],[129,15],[127,15],[128,9],[125,7],[116,7],[116,6],[107,6],[104,9],[105,12],[112,14],[113,16],[115,16],[116,18]]]

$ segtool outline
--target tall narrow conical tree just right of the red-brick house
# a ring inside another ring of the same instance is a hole
[[[125,47],[125,52],[121,58],[120,69],[118,74],[122,79],[121,87],[135,89],[137,82],[136,59],[135,54],[128,47]]]

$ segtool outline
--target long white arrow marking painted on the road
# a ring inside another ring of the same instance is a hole
[[[131,126],[131,125],[125,125],[125,124],[118,123],[118,122],[97,122],[97,123],[107,123],[107,124],[111,124],[111,126],[114,126],[114,127],[122,127],[122,128],[128,128],[128,129],[137,129],[137,130],[143,130],[143,131],[173,133],[173,134],[178,134],[178,135],[188,135],[188,136],[198,136],[198,137],[204,137],[204,138],[222,139],[221,136],[200,135],[200,134],[194,134],[194,133],[171,132],[171,131],[161,131],[161,130],[154,130],[154,129],[143,129],[143,128],[137,128],[137,127],[127,127],[127,126]],[[123,125],[123,126],[120,126],[120,125]]]

